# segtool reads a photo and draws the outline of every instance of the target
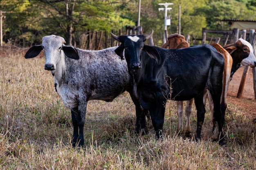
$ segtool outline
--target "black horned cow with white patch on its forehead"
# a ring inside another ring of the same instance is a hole
[[[209,44],[184,49],[163,49],[144,45],[148,35],[121,35],[111,33],[121,45],[115,52],[125,57],[134,80],[134,91],[141,105],[149,110],[156,137],[162,136],[167,99],[176,101],[194,98],[197,109],[195,138],[200,139],[204,122],[204,89],[213,99],[213,129],[218,123],[219,144],[224,145],[220,98],[222,93],[223,56]],[[124,55],[123,56],[123,51]]]

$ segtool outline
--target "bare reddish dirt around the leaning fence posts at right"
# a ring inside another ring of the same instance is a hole
[[[254,97],[252,68],[249,68],[242,97],[240,99],[236,98],[244,68],[245,67],[239,68],[233,75],[233,78],[229,84],[227,103],[231,102],[242,107],[243,110],[246,110],[249,117],[256,118],[256,99]]]

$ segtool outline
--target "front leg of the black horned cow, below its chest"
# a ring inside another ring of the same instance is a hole
[[[166,101],[155,101],[154,106],[150,107],[149,114],[153,127],[155,129],[156,138],[163,137],[163,125],[164,125],[164,112],[165,112]]]

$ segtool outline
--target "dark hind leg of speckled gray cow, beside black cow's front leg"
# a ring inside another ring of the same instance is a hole
[[[146,115],[148,115],[148,110],[141,106],[139,100],[132,94],[132,92],[130,93],[130,97],[135,104],[136,111],[135,133],[139,134],[140,130],[142,130],[142,135],[144,135],[146,133]]]

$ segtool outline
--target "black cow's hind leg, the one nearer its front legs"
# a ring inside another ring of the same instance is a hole
[[[202,125],[204,123],[204,114],[205,114],[205,108],[204,108],[204,102],[203,102],[203,95],[204,93],[201,93],[197,97],[195,97],[195,108],[197,110],[197,129],[196,129],[196,135],[195,140],[198,141],[198,139],[201,139],[201,131],[202,131]]]

